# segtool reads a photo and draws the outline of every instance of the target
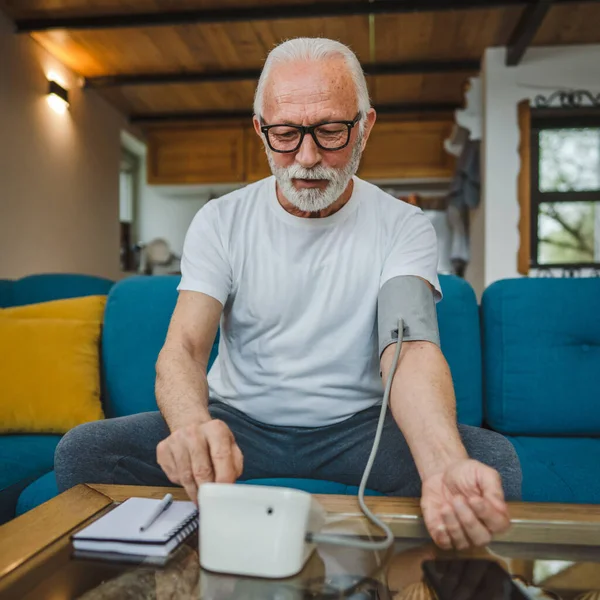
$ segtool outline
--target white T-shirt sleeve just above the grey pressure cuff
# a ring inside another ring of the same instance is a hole
[[[390,245],[383,263],[379,289],[392,279],[402,275],[415,275],[428,281],[434,288],[435,300],[442,299],[437,274],[438,245],[431,221],[419,210],[413,212],[400,227]]]

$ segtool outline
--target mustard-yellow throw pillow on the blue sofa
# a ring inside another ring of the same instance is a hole
[[[0,310],[0,433],[66,433],[104,418],[105,296]]]

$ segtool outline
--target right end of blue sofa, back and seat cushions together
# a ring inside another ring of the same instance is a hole
[[[481,305],[485,422],[514,444],[523,497],[600,503],[600,279],[512,279]]]

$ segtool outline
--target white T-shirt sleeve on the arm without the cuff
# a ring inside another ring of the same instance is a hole
[[[202,292],[225,306],[232,275],[222,238],[218,211],[209,202],[198,211],[185,236],[178,290]]]

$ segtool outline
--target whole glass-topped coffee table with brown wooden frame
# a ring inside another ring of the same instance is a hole
[[[296,577],[263,580],[200,568],[197,536],[167,564],[114,563],[73,555],[70,536],[131,496],[161,498],[165,488],[81,485],[0,527],[0,598],[23,600],[146,599],[296,600],[352,598],[428,600],[424,560],[454,556],[499,562],[534,597],[600,599],[600,506],[511,504],[512,528],[488,548],[442,552],[424,528],[418,501],[369,498],[396,536],[388,552],[319,547]],[[183,490],[173,490],[184,500]],[[351,496],[319,496],[327,530],[369,537],[374,532]],[[542,591],[543,590],[543,591]],[[467,596],[465,596],[466,598]]]

